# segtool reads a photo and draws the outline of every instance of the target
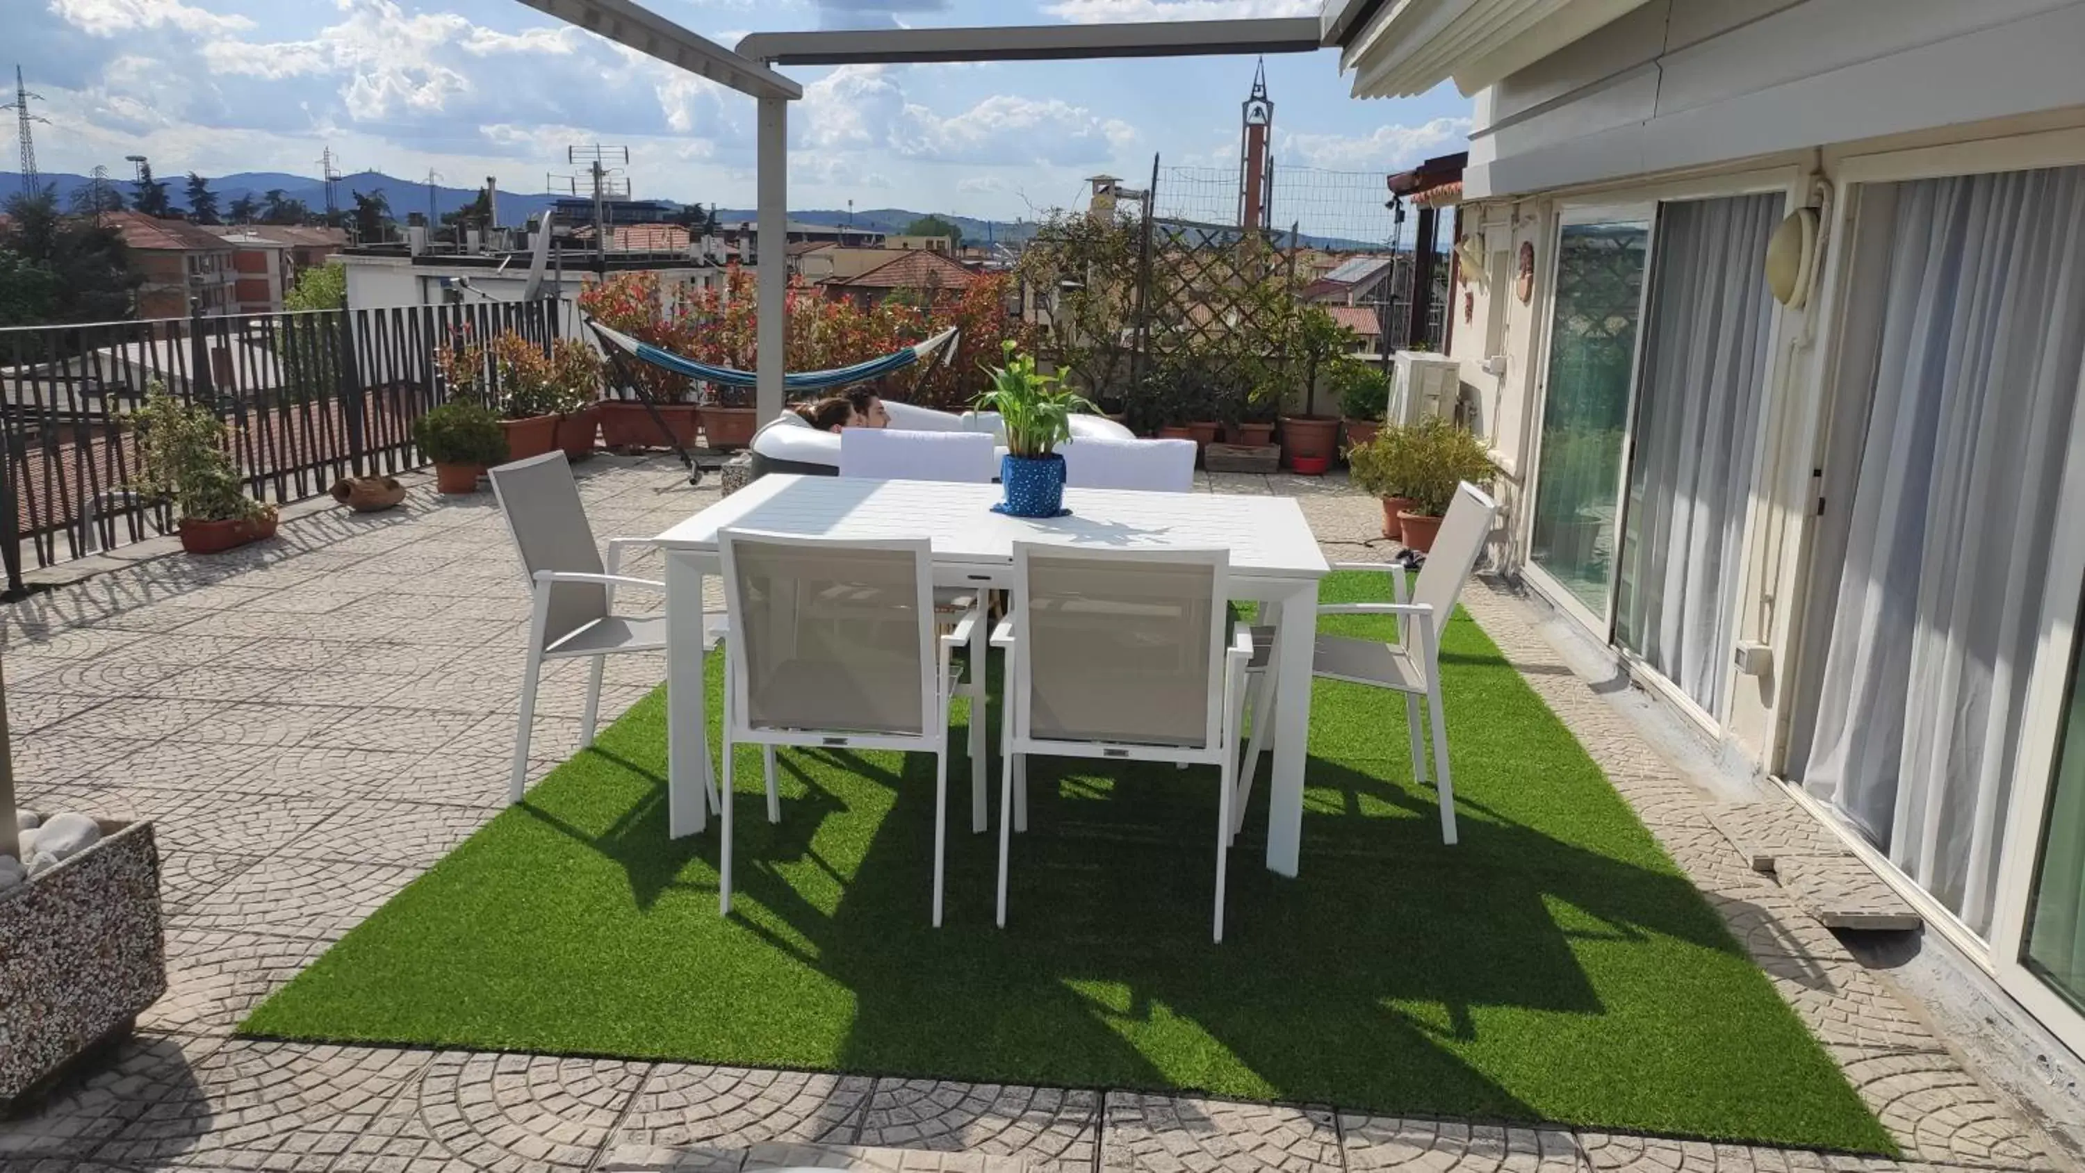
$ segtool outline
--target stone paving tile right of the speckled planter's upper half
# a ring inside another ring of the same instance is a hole
[[[169,929],[338,940],[363,923],[415,869],[271,856],[167,921]]]

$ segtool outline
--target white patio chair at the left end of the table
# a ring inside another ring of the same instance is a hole
[[[665,650],[663,615],[615,615],[615,588],[665,590],[655,579],[634,579],[617,573],[623,552],[651,546],[651,538],[611,538],[603,565],[594,546],[594,527],[586,523],[580,485],[563,452],[544,452],[492,469],[492,496],[507,515],[507,531],[521,554],[534,608],[528,629],[528,667],[521,669],[521,719],[515,729],[515,769],[507,785],[511,802],[521,802],[528,785],[530,727],[536,721],[536,681],[544,660],[590,656],[586,677],[586,708],[580,717],[580,748],[594,744],[594,723],[600,715],[600,671],[607,656],[621,652]],[[723,617],[705,615],[703,642],[715,648],[723,638]],[[711,806],[717,802],[715,779],[709,779]]]

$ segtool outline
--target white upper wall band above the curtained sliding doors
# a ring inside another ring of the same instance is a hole
[[[2085,104],[2085,0],[1651,0],[1482,92],[1470,198]]]

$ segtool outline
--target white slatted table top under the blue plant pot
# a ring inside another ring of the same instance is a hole
[[[719,529],[824,538],[928,538],[940,563],[1011,563],[1015,542],[1105,550],[1230,550],[1230,573],[1324,577],[1330,567],[1291,498],[1232,494],[1063,492],[1070,517],[992,513],[999,485],[876,481],[769,473],[657,538],[667,550],[713,552]]]

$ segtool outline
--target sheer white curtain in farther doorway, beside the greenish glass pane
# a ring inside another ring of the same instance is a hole
[[[1774,321],[1762,263],[1779,223],[1779,194],[1664,204],[1651,250],[1614,633],[1714,715]]]

